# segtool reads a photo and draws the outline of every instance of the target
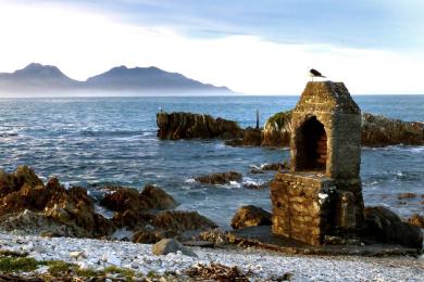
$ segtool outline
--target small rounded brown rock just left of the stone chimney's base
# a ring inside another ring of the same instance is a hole
[[[236,214],[232,219],[232,227],[234,229],[240,229],[244,227],[253,227],[253,226],[271,226],[272,215],[260,208],[252,205],[242,206],[237,209]]]

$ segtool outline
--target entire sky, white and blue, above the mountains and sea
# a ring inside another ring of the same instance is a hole
[[[421,0],[0,0],[0,72],[157,66],[299,94],[314,67],[353,94],[424,93],[423,12]]]

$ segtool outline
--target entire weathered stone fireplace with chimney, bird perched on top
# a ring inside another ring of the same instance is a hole
[[[342,82],[308,82],[291,116],[291,170],[271,184],[273,232],[312,245],[363,223],[361,111]]]

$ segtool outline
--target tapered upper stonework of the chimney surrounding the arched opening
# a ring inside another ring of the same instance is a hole
[[[352,178],[359,175],[361,163],[361,111],[350,98],[344,84],[331,81],[308,82],[291,115],[294,129],[290,141],[292,170],[301,170],[298,150],[301,128],[310,118],[316,118],[327,136],[325,174],[333,178]]]

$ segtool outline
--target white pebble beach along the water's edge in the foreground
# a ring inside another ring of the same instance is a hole
[[[36,260],[62,260],[80,269],[103,270],[117,267],[132,270],[139,277],[149,273],[173,273],[185,278],[185,271],[197,265],[221,264],[237,266],[259,281],[277,280],[289,274],[291,281],[344,280],[424,280],[424,255],[413,257],[356,257],[285,255],[257,248],[189,247],[198,257],[180,253],[155,256],[150,244],[93,239],[41,238],[0,232],[1,251],[27,253]],[[76,256],[76,252],[80,252]],[[34,273],[47,271],[41,267]],[[29,274],[29,273],[26,273]]]

